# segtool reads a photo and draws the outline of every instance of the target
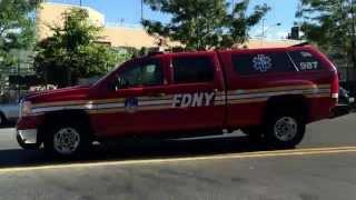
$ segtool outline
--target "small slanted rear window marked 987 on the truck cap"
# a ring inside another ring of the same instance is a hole
[[[322,70],[322,62],[308,51],[288,52],[299,71]]]

